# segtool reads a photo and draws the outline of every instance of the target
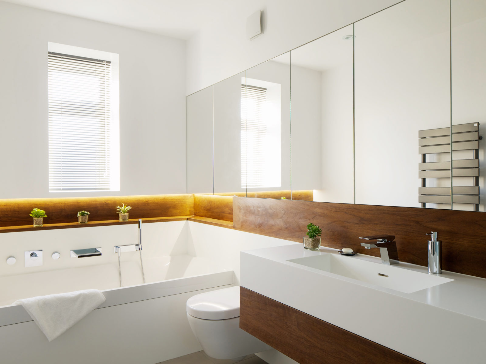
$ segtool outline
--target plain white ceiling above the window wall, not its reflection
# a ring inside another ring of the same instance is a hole
[[[234,0],[3,0],[145,32],[188,39]]]

